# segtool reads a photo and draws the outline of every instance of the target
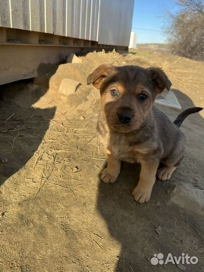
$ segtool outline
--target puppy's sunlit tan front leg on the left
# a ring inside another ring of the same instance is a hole
[[[101,179],[105,183],[113,183],[117,179],[120,173],[120,163],[121,161],[113,157],[111,151],[106,149],[106,159],[108,166],[105,168],[101,174]]]

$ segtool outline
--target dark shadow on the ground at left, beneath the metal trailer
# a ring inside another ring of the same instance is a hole
[[[28,162],[42,142],[56,107],[40,109],[34,104],[47,92],[57,66],[40,64],[35,85],[29,79],[0,86],[0,185]]]

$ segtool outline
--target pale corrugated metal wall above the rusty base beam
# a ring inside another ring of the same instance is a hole
[[[128,46],[134,0],[0,0],[0,26]]]

